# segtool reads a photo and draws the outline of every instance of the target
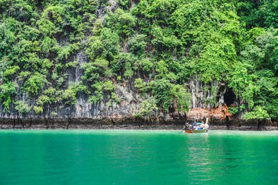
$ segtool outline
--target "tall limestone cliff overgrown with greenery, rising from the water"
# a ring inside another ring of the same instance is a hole
[[[263,69],[258,74],[265,75],[269,88],[260,88],[272,92],[263,98],[276,95],[275,71],[263,64],[250,67],[253,58],[246,54],[247,49],[275,45],[258,36],[265,34],[263,28],[242,34],[246,28],[237,16],[240,3],[218,4],[104,0],[1,5],[0,128],[179,129],[186,121],[209,118],[211,129],[277,129],[275,120],[243,121],[251,108],[229,113],[229,107],[254,99],[259,88],[246,93],[247,85],[259,79],[253,68]],[[243,39],[246,35],[251,35],[249,41]],[[260,58],[271,52],[265,53]],[[243,78],[234,67],[239,61],[247,61]],[[234,75],[243,82],[232,79]],[[72,84],[76,89],[70,89]],[[261,99],[256,105],[261,106]],[[146,100],[154,103],[140,112]],[[19,112],[16,102],[31,108]],[[273,107],[267,108],[275,115]]]

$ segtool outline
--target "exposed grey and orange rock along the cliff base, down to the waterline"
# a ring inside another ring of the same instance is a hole
[[[76,55],[79,66],[70,73],[69,82],[78,82],[83,75],[80,64],[85,62],[83,53]],[[30,112],[24,116],[18,115],[15,107],[11,107],[10,112],[3,112],[0,105],[0,123],[2,128],[91,128],[91,129],[180,129],[185,121],[204,121],[210,118],[211,129],[220,130],[277,130],[277,123],[271,121],[254,124],[254,121],[243,121],[242,114],[233,116],[228,112],[228,107],[237,105],[233,94],[220,82],[214,82],[211,89],[204,90],[204,85],[195,78],[188,80],[191,102],[190,109],[186,114],[177,110],[174,103],[170,105],[168,112],[153,113],[151,118],[135,118],[133,115],[140,109],[142,97],[132,83],[118,85],[115,92],[122,97],[120,103],[110,100],[110,95],[105,94],[104,99],[98,103],[88,103],[88,96],[78,94],[76,104],[73,107],[66,105],[54,105],[49,107],[49,112],[57,112],[56,116],[35,114]],[[228,93],[227,93],[228,92]],[[215,98],[215,100],[213,100]],[[17,96],[17,100],[26,100],[26,96]],[[210,101],[211,100],[211,101]],[[35,104],[35,99],[32,100]],[[213,102],[213,103],[211,103]]]

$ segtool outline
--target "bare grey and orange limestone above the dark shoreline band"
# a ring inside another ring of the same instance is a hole
[[[82,52],[76,54],[76,60],[79,62],[77,67],[72,70],[67,71],[69,74],[66,84],[70,82],[79,82],[83,76],[83,69],[81,69],[81,64],[88,62],[88,58]],[[140,76],[139,76],[140,77]],[[143,78],[143,77],[142,77]],[[145,79],[152,80],[152,79]],[[104,94],[104,99],[98,103],[92,104],[88,103],[88,96],[83,93],[79,93],[77,96],[76,104],[72,107],[72,112],[70,114],[71,107],[68,105],[60,106],[59,104],[49,107],[49,112],[57,112],[57,116],[49,117],[45,115],[46,118],[57,118],[57,119],[67,119],[69,114],[71,118],[76,119],[93,119],[101,120],[103,118],[109,119],[121,119],[121,118],[132,118],[133,114],[136,114],[140,109],[140,103],[144,100],[138,91],[134,87],[133,80],[130,82],[124,82],[122,85],[117,84],[113,80],[116,86],[115,93],[118,97],[121,97],[120,103],[115,103],[115,101],[110,100],[109,94]],[[224,94],[227,88],[220,82],[213,82],[211,86],[206,88],[207,85],[203,85],[199,82],[197,78],[193,77],[187,82],[189,93],[191,94],[190,109],[186,115],[181,114],[174,106],[174,103],[170,105],[169,112],[156,112],[152,114],[152,118],[160,118],[163,121],[171,121],[179,118],[188,118],[190,120],[202,120],[206,117],[211,117],[214,119],[225,119],[226,116],[231,116],[227,112],[227,103],[224,102]],[[213,90],[211,89],[213,88]],[[205,90],[206,89],[206,90]],[[230,104],[236,104],[234,96],[229,97],[232,100]],[[26,95],[17,95],[15,100],[26,100]],[[35,98],[31,100],[33,105],[35,105]],[[213,102],[213,103],[211,103]],[[217,108],[215,108],[217,107]],[[220,111],[220,109],[222,111]],[[217,110],[217,111],[215,111]],[[37,115],[34,112],[24,115],[23,118],[44,118],[44,114]],[[13,119],[17,117],[17,112],[15,107],[10,108],[10,112],[3,111],[3,105],[0,104],[0,118]],[[20,118],[22,116],[19,115]]]

